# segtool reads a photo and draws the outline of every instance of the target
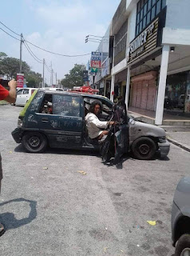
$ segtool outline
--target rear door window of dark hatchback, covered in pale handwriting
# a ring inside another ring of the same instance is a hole
[[[80,98],[72,95],[53,95],[53,114],[80,116]]]

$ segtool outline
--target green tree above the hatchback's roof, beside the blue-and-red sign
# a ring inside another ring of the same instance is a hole
[[[75,64],[69,74],[65,74],[65,78],[61,80],[61,85],[65,88],[73,88],[73,86],[83,86],[83,70],[85,65]]]

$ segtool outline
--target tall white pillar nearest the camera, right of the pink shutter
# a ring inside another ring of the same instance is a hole
[[[163,46],[162,56],[161,56],[161,66],[160,66],[160,79],[157,94],[157,104],[156,104],[156,118],[155,124],[160,126],[163,121],[164,114],[164,96],[165,96],[165,86],[168,71],[168,57],[169,57],[169,46]]]

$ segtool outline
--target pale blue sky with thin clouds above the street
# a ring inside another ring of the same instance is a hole
[[[0,22],[11,30],[23,34],[24,38],[46,50],[59,54],[89,54],[97,50],[96,42],[85,43],[85,36],[93,34],[104,36],[117,6],[121,0],[8,0],[1,1]],[[0,23],[0,28],[6,30]],[[0,30],[0,52],[9,57],[19,58],[20,42]],[[46,59],[57,79],[64,78],[75,63],[85,64],[89,56],[66,58],[46,53],[34,46],[30,49],[39,59]],[[32,70],[42,74],[42,64],[36,62],[23,46],[22,60]],[[45,69],[46,82],[50,81],[50,73]],[[55,77],[53,77],[55,83]]]

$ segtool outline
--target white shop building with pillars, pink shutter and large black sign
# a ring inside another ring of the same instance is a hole
[[[156,125],[164,112],[190,114],[189,8],[188,0],[122,0],[113,16],[110,97],[126,92],[127,106],[152,111]]]

